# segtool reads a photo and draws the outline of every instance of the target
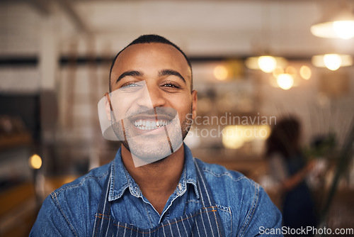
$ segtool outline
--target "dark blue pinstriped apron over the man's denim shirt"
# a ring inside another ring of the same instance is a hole
[[[198,162],[200,161],[198,160]],[[225,236],[212,192],[204,174],[200,171],[198,162],[195,160],[197,187],[202,201],[201,209],[176,219],[163,221],[149,229],[137,228],[131,224],[115,221],[110,216],[110,202],[108,202],[109,178],[105,182],[98,203],[92,236]]]

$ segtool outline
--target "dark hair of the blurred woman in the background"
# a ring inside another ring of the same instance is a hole
[[[265,156],[280,153],[289,158],[299,150],[300,123],[296,118],[282,118],[273,127],[265,145]]]

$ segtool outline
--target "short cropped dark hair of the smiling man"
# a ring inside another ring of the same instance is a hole
[[[181,48],[179,48],[177,45],[175,45],[174,43],[172,43],[170,40],[167,40],[166,38],[160,36],[160,35],[141,35],[139,36],[139,38],[135,39],[132,41],[132,43],[130,43],[129,45],[127,45],[125,48],[123,48],[122,50],[120,50],[120,52],[115,55],[115,58],[112,62],[112,65],[110,65],[110,76],[112,74],[112,70],[113,70],[113,66],[115,65],[115,60],[117,60],[117,57],[120,55],[120,53],[122,53],[126,48],[128,48],[131,45],[137,45],[139,43],[164,43],[166,45],[171,45],[174,48],[176,48],[179,52],[182,53],[183,57],[185,58],[185,60],[188,63],[188,66],[190,68],[190,90],[193,89],[193,73],[192,73],[192,65],[190,64],[190,61],[188,59],[188,57],[185,55],[185,53],[183,53],[183,51],[181,50]],[[112,88],[110,87],[110,77],[109,77],[109,90],[110,92],[112,92]]]

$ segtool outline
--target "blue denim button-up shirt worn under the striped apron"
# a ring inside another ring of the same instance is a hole
[[[175,192],[161,215],[144,197],[125,169],[118,150],[108,165],[91,170],[50,194],[42,204],[30,236],[91,236],[98,200],[112,172],[108,201],[117,221],[153,228],[162,221],[201,208],[192,153],[184,145],[185,165]],[[220,165],[202,163],[226,236],[256,236],[265,228],[280,229],[280,211],[259,184]],[[282,235],[279,235],[282,236]]]

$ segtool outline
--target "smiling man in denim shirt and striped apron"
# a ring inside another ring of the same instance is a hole
[[[197,92],[181,49],[142,35],[115,57],[109,83],[101,128],[121,148],[108,165],[52,192],[31,236],[256,236],[281,228],[258,184],[193,158],[183,143]]]

